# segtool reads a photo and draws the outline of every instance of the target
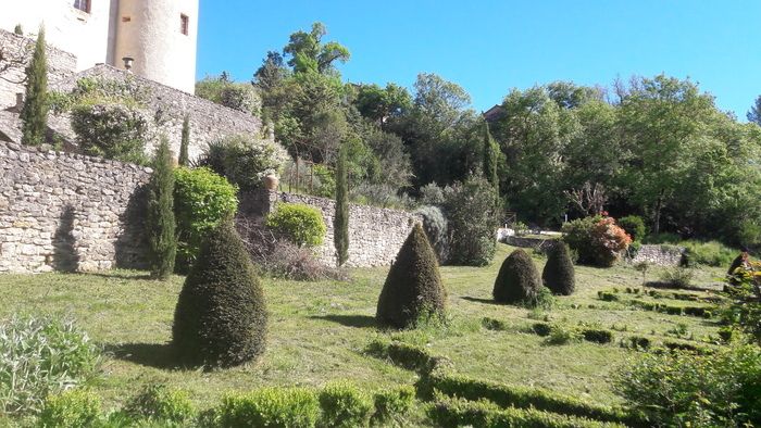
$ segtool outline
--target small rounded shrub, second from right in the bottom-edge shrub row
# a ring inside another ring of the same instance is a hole
[[[366,392],[344,382],[327,385],[320,391],[325,427],[365,427],[373,413],[373,401]]]

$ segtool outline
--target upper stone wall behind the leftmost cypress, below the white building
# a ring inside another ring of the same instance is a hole
[[[32,59],[34,48],[35,40],[0,29],[0,52],[3,56],[0,61],[0,110],[16,105],[16,93],[25,91],[23,81],[26,65],[12,66],[3,71],[3,64],[15,59],[28,61]],[[48,46],[46,56],[48,81],[61,80],[74,74],[76,56],[73,54]]]

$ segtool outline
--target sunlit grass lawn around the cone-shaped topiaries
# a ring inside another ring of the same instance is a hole
[[[214,372],[172,368],[167,358],[172,319],[183,277],[157,282],[145,273],[45,274],[0,276],[3,303],[0,318],[13,313],[74,316],[107,351],[103,376],[95,386],[107,406],[126,401],[142,385],[166,382],[187,390],[201,407],[215,404],[229,391],[261,386],[321,386],[350,379],[370,390],[411,385],[416,375],[363,353],[373,339],[394,338],[425,347],[450,358],[454,369],[474,378],[546,388],[588,401],[616,404],[610,376],[627,357],[619,345],[579,342],[547,345],[526,332],[536,318],[575,326],[613,327],[616,339],[629,335],[671,339],[679,327],[694,340],[716,337],[711,320],[694,316],[646,312],[622,302],[598,300],[599,290],[639,287],[641,274],[628,266],[608,269],[576,267],[573,297],[559,298],[547,313],[491,302],[494,278],[512,251],[500,244],[495,262],[483,268],[442,267],[449,292],[451,322],[445,328],[382,331],[374,315],[387,268],[357,269],[349,282],[297,282],[264,279],[270,311],[265,354],[254,364]],[[538,268],[545,260],[535,256]],[[715,284],[722,268],[701,268],[695,284]],[[658,269],[648,273],[654,279]],[[623,298],[633,298],[622,293]],[[661,299],[669,304],[690,304]],[[503,331],[482,327],[483,317],[507,323]],[[683,335],[683,337],[686,337]]]

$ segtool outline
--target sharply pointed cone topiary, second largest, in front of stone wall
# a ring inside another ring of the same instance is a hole
[[[380,325],[412,327],[421,316],[444,315],[446,301],[436,253],[415,224],[388,272],[376,319]]]

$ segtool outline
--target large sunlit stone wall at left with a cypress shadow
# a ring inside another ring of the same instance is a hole
[[[0,142],[0,273],[140,267],[150,169]]]

